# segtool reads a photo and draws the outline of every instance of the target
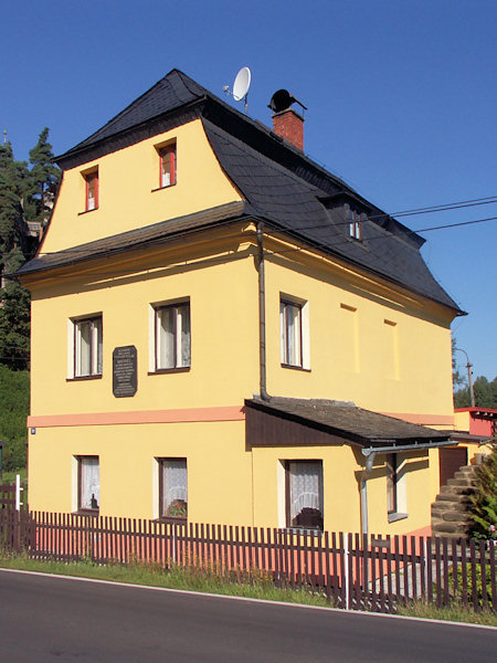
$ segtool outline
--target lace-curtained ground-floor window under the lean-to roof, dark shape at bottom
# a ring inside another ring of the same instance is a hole
[[[286,504],[288,527],[322,530],[322,461],[287,461]]]

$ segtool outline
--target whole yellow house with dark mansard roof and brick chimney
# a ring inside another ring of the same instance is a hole
[[[57,158],[19,272],[31,508],[429,526],[462,312],[419,235],[305,156],[290,105],[268,129],[173,70]]]

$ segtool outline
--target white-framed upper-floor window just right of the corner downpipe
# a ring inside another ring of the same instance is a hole
[[[290,311],[297,315],[292,317]],[[293,357],[290,332],[294,336],[294,347],[298,344]],[[279,348],[282,366],[310,370],[309,303],[284,293],[279,294]]]

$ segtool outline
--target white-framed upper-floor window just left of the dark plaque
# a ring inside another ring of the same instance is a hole
[[[83,335],[84,327],[89,333],[87,341],[85,341]],[[84,343],[87,343],[87,367],[82,365]],[[67,324],[67,377],[70,379],[102,377],[104,362],[102,313],[70,318]]]

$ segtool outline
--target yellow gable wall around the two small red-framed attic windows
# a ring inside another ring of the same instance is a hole
[[[159,186],[156,146],[176,139],[177,183]],[[83,172],[98,167],[98,209],[84,212]],[[64,171],[42,251],[61,251],[241,200],[209,146],[200,119]],[[82,213],[84,212],[84,213]]]

